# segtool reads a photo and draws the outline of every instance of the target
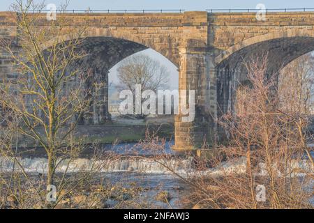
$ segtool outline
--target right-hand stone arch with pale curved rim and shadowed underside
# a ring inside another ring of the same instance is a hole
[[[314,31],[293,28],[248,38],[222,52],[215,58],[218,115],[234,109],[235,91],[245,82],[244,62],[252,56],[268,53],[267,75],[278,74],[288,63],[314,51]]]

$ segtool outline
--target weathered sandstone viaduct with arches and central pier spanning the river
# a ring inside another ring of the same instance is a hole
[[[246,80],[243,61],[269,54],[269,73],[314,50],[314,13],[267,13],[257,21],[255,13],[69,13],[69,29],[89,20],[82,47],[89,49],[85,66],[94,69],[100,82],[122,59],[151,48],[172,61],[179,70],[179,89],[195,90],[195,121],[175,118],[177,149],[199,147],[219,137],[214,118],[234,107],[237,84]],[[40,26],[40,24],[38,24]],[[14,38],[14,16],[0,13],[0,38]],[[64,40],[68,37],[65,36]],[[0,54],[1,78],[13,76],[10,58]],[[107,89],[104,106],[94,108],[89,124],[109,117]]]

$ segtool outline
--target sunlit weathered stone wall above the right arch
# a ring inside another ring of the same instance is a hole
[[[214,13],[209,14],[208,22],[209,46],[226,50],[267,33],[313,30],[314,13],[267,13],[264,22],[257,21],[255,13]]]

